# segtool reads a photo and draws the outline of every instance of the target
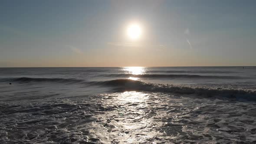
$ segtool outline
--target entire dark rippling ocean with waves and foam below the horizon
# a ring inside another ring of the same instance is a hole
[[[0,68],[0,144],[255,144],[256,67]]]

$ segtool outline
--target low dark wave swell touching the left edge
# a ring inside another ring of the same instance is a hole
[[[20,78],[3,78],[0,79],[0,82],[59,82],[59,83],[78,83],[83,82],[80,79],[63,79],[63,78],[28,78],[28,77],[20,77]]]

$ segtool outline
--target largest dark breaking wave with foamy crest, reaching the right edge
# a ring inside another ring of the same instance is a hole
[[[198,95],[222,95],[231,98],[246,98],[256,100],[256,91],[243,89],[222,89],[222,88],[200,88],[180,85],[153,84],[131,79],[115,79],[103,82],[90,82],[92,85],[103,85],[112,87],[115,92],[125,91],[148,91],[148,92],[171,92],[178,94],[198,94]]]

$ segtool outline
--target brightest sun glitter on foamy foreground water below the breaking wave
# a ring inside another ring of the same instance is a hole
[[[157,133],[149,131],[151,120],[146,117],[144,109],[148,110],[149,95],[143,92],[116,93],[112,103],[118,106],[118,115],[115,114],[113,131],[118,132],[118,138],[125,144],[144,143],[146,139],[154,137]],[[121,131],[121,132],[120,132]],[[122,132],[123,131],[123,132]],[[123,143],[122,143],[123,144]]]

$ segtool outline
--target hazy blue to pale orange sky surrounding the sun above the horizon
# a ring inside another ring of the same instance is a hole
[[[1,0],[0,67],[256,65],[256,0]],[[141,35],[128,37],[137,23]]]

